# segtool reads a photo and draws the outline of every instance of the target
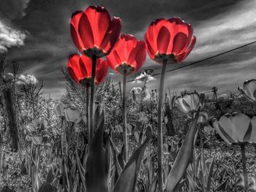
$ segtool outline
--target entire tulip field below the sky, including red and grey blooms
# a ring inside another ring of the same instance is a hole
[[[215,87],[214,96],[171,93],[167,67],[187,58],[196,34],[181,18],[152,20],[137,39],[105,7],[70,15],[78,52],[58,100],[40,82],[20,82],[18,64],[0,55],[0,191],[256,192],[256,80],[226,97]],[[140,93],[129,93],[147,55],[159,87],[146,69]]]

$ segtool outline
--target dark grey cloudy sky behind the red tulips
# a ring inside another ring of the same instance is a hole
[[[146,28],[157,18],[180,17],[191,23],[197,43],[183,64],[167,66],[167,70],[191,64],[218,53],[256,40],[256,1],[254,0],[1,0],[0,53],[18,61],[20,74],[31,74],[44,80],[45,95],[58,99],[64,93],[61,69],[67,66],[67,56],[76,52],[69,34],[72,12],[91,4],[106,7],[111,16],[123,20],[122,33],[143,39]],[[256,76],[256,44],[178,69],[166,75],[165,87],[173,92],[184,88],[211,91],[215,85],[219,94],[236,91],[244,80]],[[160,65],[147,58],[140,69]],[[121,75],[109,69],[113,80]],[[139,74],[130,75],[128,80]],[[148,82],[148,91],[159,87],[159,76]],[[128,88],[142,83],[129,82]]]

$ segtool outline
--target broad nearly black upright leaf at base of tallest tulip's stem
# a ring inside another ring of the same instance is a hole
[[[97,130],[92,139],[86,161],[86,191],[108,191],[105,174],[105,153],[103,149],[103,132],[105,128],[104,111],[95,119]]]

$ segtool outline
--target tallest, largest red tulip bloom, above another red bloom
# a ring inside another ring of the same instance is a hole
[[[104,7],[90,6],[84,12],[74,12],[70,21],[70,32],[81,53],[92,58],[108,55],[118,41],[121,19],[111,20]]]

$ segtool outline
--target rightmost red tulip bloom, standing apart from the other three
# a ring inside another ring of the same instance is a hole
[[[154,20],[146,31],[148,55],[159,63],[181,62],[191,52],[196,37],[193,28],[181,18]]]

